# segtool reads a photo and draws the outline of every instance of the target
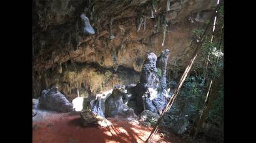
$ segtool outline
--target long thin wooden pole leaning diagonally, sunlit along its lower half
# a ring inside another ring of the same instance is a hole
[[[217,11],[220,7],[220,4],[217,5],[215,11]],[[154,129],[152,130],[152,132],[150,133],[149,137],[147,138],[147,140],[145,142],[150,143],[152,137],[154,136],[154,134],[157,133],[157,131],[159,130],[159,125],[160,122],[162,121],[162,118],[164,117],[164,114],[170,109],[170,107],[172,106],[172,104],[174,103],[175,99],[177,98],[177,95],[179,95],[179,91],[180,88],[182,87],[185,79],[187,78],[187,75],[189,75],[189,71],[195,61],[195,58],[197,57],[198,53],[200,52],[200,47],[202,46],[202,43],[204,42],[205,39],[205,35],[207,35],[207,32],[210,29],[210,25],[212,25],[212,22],[214,20],[214,17],[216,15],[216,12],[214,11],[214,14],[212,15],[209,24],[207,25],[207,27],[204,30],[204,34],[202,34],[202,36],[200,36],[200,40],[197,43],[197,47],[195,48],[195,51],[192,55],[192,58],[190,59],[189,65],[187,66],[187,68],[185,69],[182,77],[180,78],[179,84],[177,86],[177,88],[175,88],[174,94],[172,95],[172,97],[170,98],[169,102],[167,103],[164,111],[162,111],[162,114],[160,115],[160,118],[157,120],[157,123],[155,124]]]

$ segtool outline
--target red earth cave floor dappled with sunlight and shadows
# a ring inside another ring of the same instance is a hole
[[[152,128],[122,119],[109,119],[112,127],[82,127],[79,115],[52,113],[41,121],[33,121],[34,143],[78,143],[78,142],[145,142]],[[37,126],[37,127],[34,127]],[[37,129],[36,129],[37,128]],[[183,143],[180,137],[164,134],[154,136],[154,142]]]

